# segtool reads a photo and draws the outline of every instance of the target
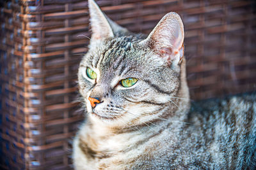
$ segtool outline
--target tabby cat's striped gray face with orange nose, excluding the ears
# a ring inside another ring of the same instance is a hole
[[[157,113],[170,103],[170,96],[175,96],[179,87],[179,73],[149,48],[127,40],[99,42],[90,48],[79,67],[79,87],[88,113],[103,121],[123,117],[121,121],[129,122],[143,114]],[[90,69],[93,77],[88,73]],[[88,97],[100,103],[93,108]]]

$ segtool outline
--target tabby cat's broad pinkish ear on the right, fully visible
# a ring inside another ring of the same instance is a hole
[[[167,62],[176,66],[184,55],[184,26],[177,13],[166,14],[140,45],[149,46]]]

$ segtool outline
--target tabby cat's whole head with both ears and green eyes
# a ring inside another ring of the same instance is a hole
[[[144,37],[115,24],[94,1],[88,3],[93,33],[78,78],[89,117],[134,125],[178,110],[178,98],[188,97],[179,15],[166,14]]]

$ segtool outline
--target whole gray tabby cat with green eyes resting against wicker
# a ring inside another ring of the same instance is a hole
[[[92,38],[78,71],[86,120],[73,143],[75,169],[256,168],[255,94],[191,109],[177,13],[145,36],[88,5]]]

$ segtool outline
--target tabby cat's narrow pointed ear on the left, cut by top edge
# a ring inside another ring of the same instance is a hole
[[[88,0],[90,11],[90,24],[92,27],[91,39],[113,38],[120,32],[128,32],[127,29],[109,19],[93,0]]]

